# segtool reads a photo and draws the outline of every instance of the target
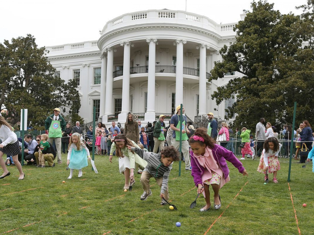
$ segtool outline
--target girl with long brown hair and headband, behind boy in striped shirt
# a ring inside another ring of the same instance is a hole
[[[141,159],[134,151],[128,149],[127,145],[131,147],[138,147],[138,145],[131,141],[124,134],[115,136],[114,142],[111,145],[109,162],[112,163],[112,154],[116,151],[116,156],[119,158],[120,174],[124,174],[125,184],[123,189],[129,189],[135,183],[134,168],[138,165],[146,167],[147,162]],[[129,184],[130,178],[130,184]]]

